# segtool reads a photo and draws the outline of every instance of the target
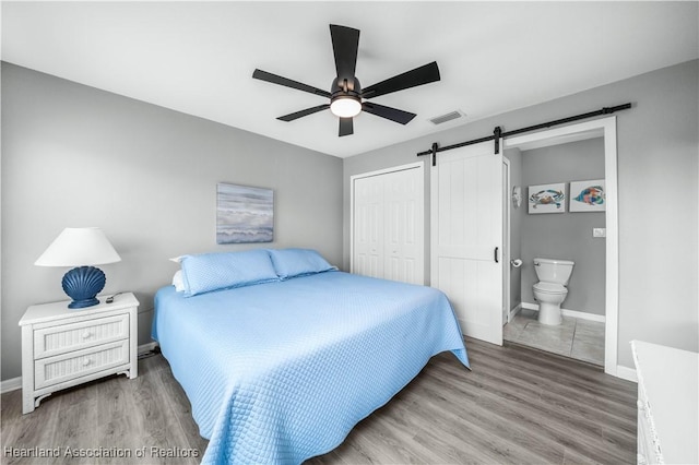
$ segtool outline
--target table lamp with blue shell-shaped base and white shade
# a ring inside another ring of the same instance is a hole
[[[73,299],[68,308],[80,309],[99,303],[95,297],[107,282],[93,265],[115,263],[121,257],[99,228],[66,228],[39,257],[38,266],[76,266],[63,276],[63,291]]]

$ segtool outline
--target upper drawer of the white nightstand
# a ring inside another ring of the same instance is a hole
[[[40,359],[129,337],[129,313],[34,331],[34,358]]]

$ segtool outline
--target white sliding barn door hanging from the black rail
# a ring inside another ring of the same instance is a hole
[[[431,286],[463,334],[502,345],[502,155],[493,142],[441,152],[430,184]]]

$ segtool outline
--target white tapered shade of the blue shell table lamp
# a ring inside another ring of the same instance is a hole
[[[120,262],[99,228],[66,228],[39,257],[39,266],[83,266]]]

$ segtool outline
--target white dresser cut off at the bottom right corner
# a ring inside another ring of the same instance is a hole
[[[699,463],[699,354],[632,341],[638,463]]]

